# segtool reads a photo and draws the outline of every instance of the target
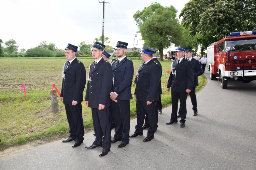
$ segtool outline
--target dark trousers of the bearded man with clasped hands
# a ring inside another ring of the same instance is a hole
[[[112,101],[115,122],[115,139],[129,142],[130,133],[130,100]]]

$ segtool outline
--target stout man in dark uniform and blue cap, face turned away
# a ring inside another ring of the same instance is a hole
[[[134,92],[136,97],[137,125],[135,132],[130,137],[143,135],[143,123],[147,115],[149,129],[144,142],[154,138],[157,130],[157,101],[159,100],[158,86],[161,77],[161,67],[152,58],[154,50],[144,46],[141,51],[141,58],[144,62],[137,74],[137,84]]]

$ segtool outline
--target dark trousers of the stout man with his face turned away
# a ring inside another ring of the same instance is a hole
[[[137,125],[135,126],[135,132],[143,132],[143,123],[145,115],[147,115],[149,129],[147,131],[147,136],[154,136],[157,130],[157,103],[153,102],[147,105],[147,102],[136,102],[136,112],[137,112]]]

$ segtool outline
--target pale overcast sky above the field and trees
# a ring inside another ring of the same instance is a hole
[[[108,44],[128,43],[128,48],[143,47],[133,14],[153,2],[174,6],[177,17],[189,0],[109,0],[105,1],[104,36]],[[102,3],[100,3],[102,2]],[[93,44],[102,35],[103,1],[98,0],[1,0],[0,39],[16,40],[18,50],[37,47],[42,41],[65,49],[68,43]],[[179,19],[181,21],[181,19]],[[137,38],[136,38],[137,35]],[[138,40],[138,43],[137,43]],[[2,44],[4,46],[4,44]],[[164,51],[174,50],[170,47]]]

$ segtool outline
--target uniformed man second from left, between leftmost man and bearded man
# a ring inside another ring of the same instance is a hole
[[[85,95],[85,105],[91,108],[95,141],[87,149],[94,149],[102,146],[99,156],[108,154],[111,147],[111,126],[110,126],[110,91],[112,86],[111,64],[102,58],[105,45],[95,42],[92,47],[92,54],[95,62],[89,66],[89,76]],[[104,138],[102,140],[102,136]]]

